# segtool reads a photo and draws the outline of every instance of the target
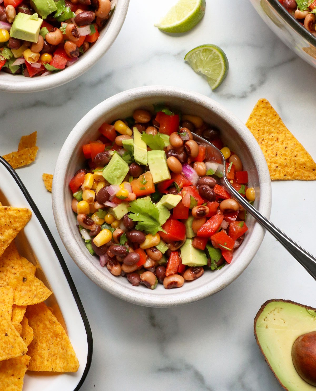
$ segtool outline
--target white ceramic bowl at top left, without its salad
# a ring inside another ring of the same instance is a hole
[[[123,26],[128,7],[129,0],[116,0],[114,12],[105,28],[100,32],[99,39],[73,65],[43,77],[24,77],[23,75],[0,72],[0,90],[10,92],[49,90],[82,75],[109,50]]]

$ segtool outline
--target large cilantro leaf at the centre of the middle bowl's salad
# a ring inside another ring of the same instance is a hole
[[[159,210],[150,198],[139,198],[130,203],[129,218],[137,221],[136,229],[155,235],[164,231],[159,223]]]

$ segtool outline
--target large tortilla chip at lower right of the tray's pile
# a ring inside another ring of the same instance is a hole
[[[26,309],[34,339],[27,352],[30,371],[76,372],[79,361],[68,335],[45,303]]]

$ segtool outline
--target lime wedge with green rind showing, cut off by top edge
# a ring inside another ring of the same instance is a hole
[[[200,22],[204,13],[205,0],[179,0],[155,26],[166,32],[186,32]]]

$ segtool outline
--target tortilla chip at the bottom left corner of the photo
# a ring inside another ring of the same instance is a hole
[[[15,357],[5,360],[0,366],[0,389],[3,391],[22,391],[24,375],[29,366],[30,357]]]

